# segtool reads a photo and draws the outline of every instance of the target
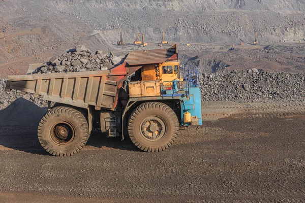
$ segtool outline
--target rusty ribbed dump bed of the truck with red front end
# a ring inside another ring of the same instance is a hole
[[[125,79],[123,63],[107,71],[9,76],[6,90],[44,95],[45,100],[81,108],[114,109],[117,88]]]

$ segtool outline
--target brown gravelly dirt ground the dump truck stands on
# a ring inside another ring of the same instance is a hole
[[[206,110],[208,106],[203,104],[204,125],[181,130],[174,146],[161,153],[144,153],[128,140],[95,132],[77,155],[53,157],[40,146],[36,126],[1,126],[0,201],[304,199],[302,111],[291,113],[295,107],[288,105],[287,114],[278,113],[283,107],[269,107],[270,114],[263,114],[257,104],[252,109],[261,113],[253,114],[247,105],[217,103]],[[235,114],[218,120],[208,116],[228,111]]]

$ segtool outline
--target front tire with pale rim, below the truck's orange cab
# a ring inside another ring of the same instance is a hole
[[[130,115],[128,133],[131,141],[145,152],[160,152],[176,140],[179,122],[167,105],[149,102],[139,105]]]

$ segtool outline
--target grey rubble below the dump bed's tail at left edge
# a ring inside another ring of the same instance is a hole
[[[29,101],[32,101],[39,107],[47,107],[47,102],[43,100],[42,96],[34,96],[34,94],[21,94],[20,91],[11,90],[11,92],[5,91],[6,80],[0,79],[0,110],[5,109],[11,103],[13,103],[17,98],[25,98]]]

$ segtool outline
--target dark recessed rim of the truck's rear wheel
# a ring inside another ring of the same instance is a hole
[[[50,137],[55,144],[65,146],[74,140],[75,129],[68,122],[58,121],[53,123],[50,128]]]

